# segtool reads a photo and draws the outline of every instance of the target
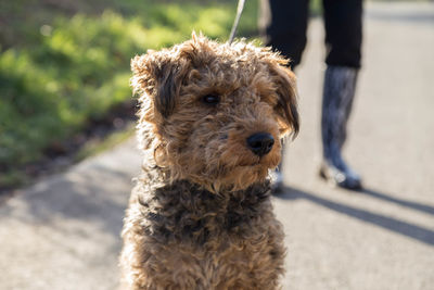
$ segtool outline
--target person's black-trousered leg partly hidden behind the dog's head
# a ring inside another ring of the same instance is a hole
[[[259,30],[266,46],[291,59],[295,67],[306,47],[308,0],[261,0]]]

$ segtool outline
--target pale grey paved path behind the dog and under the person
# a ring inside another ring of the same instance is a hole
[[[346,154],[360,193],[316,175],[322,26],[299,67],[302,133],[275,199],[284,289],[434,289],[434,5],[369,4]],[[122,217],[139,171],[130,140],[0,205],[0,289],[114,289]]]

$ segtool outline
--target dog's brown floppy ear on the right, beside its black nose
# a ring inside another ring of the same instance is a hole
[[[277,93],[279,94],[278,110],[283,112],[291,126],[292,135],[295,137],[299,130],[296,77],[284,64],[272,63],[271,74],[273,75]]]

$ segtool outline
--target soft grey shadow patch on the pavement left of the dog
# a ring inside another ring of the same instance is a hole
[[[95,172],[98,169],[95,166]],[[16,218],[23,223],[54,227],[65,234],[75,229],[64,228],[62,220],[81,220],[119,237],[129,190],[124,192],[122,187],[117,190],[116,185],[131,178],[106,167],[101,172],[101,175],[80,175],[79,181],[62,178],[39,184],[31,194],[26,194],[20,209],[3,206],[0,220],[15,211]],[[104,190],[101,184],[110,185],[112,192]],[[132,188],[132,181],[129,188]],[[75,234],[85,235],[82,230]]]

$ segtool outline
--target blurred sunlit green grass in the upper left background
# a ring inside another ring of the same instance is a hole
[[[129,60],[188,39],[228,37],[237,1],[16,0],[0,3],[0,188],[23,164],[131,98]],[[256,31],[247,1],[239,35]],[[5,24],[5,25],[3,25]]]

